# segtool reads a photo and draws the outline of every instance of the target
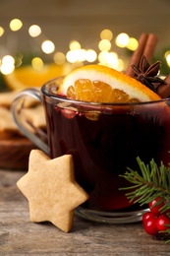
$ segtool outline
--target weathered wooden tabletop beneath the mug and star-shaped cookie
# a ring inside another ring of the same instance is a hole
[[[71,232],[29,221],[28,201],[16,186],[24,171],[0,170],[0,255],[170,255],[170,244],[138,224],[96,224],[75,217]]]

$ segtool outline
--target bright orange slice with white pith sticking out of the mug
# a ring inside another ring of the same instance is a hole
[[[136,79],[100,65],[87,65],[71,71],[60,85],[58,95],[90,102],[161,99]]]

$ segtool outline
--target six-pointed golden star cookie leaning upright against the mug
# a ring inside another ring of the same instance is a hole
[[[71,155],[51,160],[39,150],[29,155],[28,173],[17,186],[28,198],[30,221],[49,221],[68,232],[73,225],[74,209],[88,195],[76,182]]]

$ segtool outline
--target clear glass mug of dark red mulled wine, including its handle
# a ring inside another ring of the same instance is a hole
[[[45,83],[41,92],[28,89],[19,93],[12,104],[16,124],[52,159],[73,156],[76,179],[89,195],[89,200],[76,209],[78,216],[113,224],[141,221],[146,209],[129,202],[126,190],[120,188],[132,184],[120,175],[127,167],[139,169],[137,157],[144,163],[154,159],[168,164],[170,99],[138,103],[79,101],[56,95],[61,80]],[[44,106],[48,143],[22,121],[25,96],[37,98]]]

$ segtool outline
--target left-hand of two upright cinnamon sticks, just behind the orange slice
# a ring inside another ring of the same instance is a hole
[[[135,65],[137,67],[139,66],[139,63],[140,63],[140,60],[141,60],[142,55],[143,55],[143,51],[144,51],[144,48],[145,48],[147,38],[148,38],[148,34],[143,32],[142,35],[139,38],[139,45],[138,45],[137,49],[134,51],[134,53],[131,57],[131,60],[129,62],[129,66],[128,66],[126,72],[125,72],[126,75],[128,75],[128,76],[134,76],[135,75],[134,70],[132,69],[131,66],[132,65]],[[150,45],[150,43],[149,43],[149,45]]]

